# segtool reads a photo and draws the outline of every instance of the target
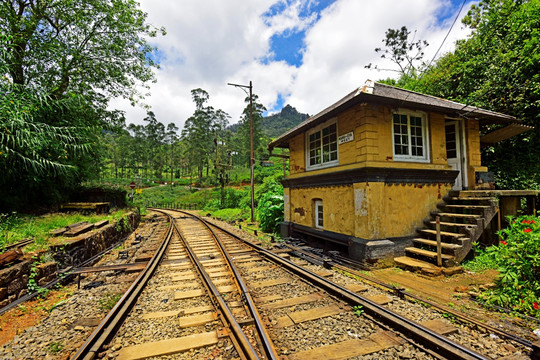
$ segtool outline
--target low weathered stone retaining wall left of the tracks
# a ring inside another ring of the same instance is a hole
[[[28,293],[31,274],[35,283],[43,286],[56,278],[58,269],[77,266],[121,241],[139,225],[138,212],[126,214],[120,221],[103,228],[70,238],[49,247],[54,261],[35,264],[35,260],[23,260],[0,270],[0,308]],[[32,271],[33,270],[33,271]]]

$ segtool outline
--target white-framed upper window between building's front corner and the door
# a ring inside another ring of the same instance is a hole
[[[429,161],[429,141],[425,114],[400,110],[392,115],[394,159]]]

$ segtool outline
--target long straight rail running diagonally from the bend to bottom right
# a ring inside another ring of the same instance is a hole
[[[201,220],[206,222],[206,220],[204,219],[201,219]],[[293,262],[272,253],[269,250],[266,250],[258,245],[250,243],[249,241],[245,241],[226,229],[223,229],[212,223],[210,224],[220,229],[221,231],[229,234],[230,236],[244,241],[244,243],[256,249],[260,254],[264,255],[271,261],[277,264],[280,264],[284,268],[288,269],[289,271],[305,279],[308,279],[310,282],[325,289],[326,291],[333,294],[334,296],[342,298],[349,303],[352,303],[355,305],[361,305],[363,307],[363,310],[366,313],[370,314],[371,316],[377,319],[380,319],[383,322],[390,323],[397,331],[401,332],[402,334],[406,334],[408,337],[414,339],[415,341],[418,341],[419,343],[423,344],[424,346],[428,347],[430,350],[434,351],[435,353],[439,355],[445,356],[449,359],[467,359],[467,360],[473,360],[473,359],[487,360],[488,359],[485,356],[471,349],[468,349],[460,344],[457,344],[451,341],[450,339],[442,335],[439,335],[436,332],[410,319],[407,319],[383,306],[380,306],[374,303],[373,301],[369,299],[364,298],[363,296],[360,296],[350,290],[347,290],[342,286],[334,284],[330,280],[327,280],[322,276],[319,276],[309,270],[306,270],[294,264]]]

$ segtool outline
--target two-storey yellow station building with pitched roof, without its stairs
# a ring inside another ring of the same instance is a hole
[[[480,126],[515,122],[368,81],[268,145],[289,149],[282,235],[346,245],[359,260],[394,255],[450,190],[478,186]]]

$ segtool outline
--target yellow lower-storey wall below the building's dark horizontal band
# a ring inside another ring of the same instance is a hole
[[[314,201],[323,201],[324,230],[362,239],[410,236],[437,208],[450,185],[388,185],[382,182],[352,186],[286,189],[288,221],[315,227]]]

